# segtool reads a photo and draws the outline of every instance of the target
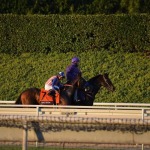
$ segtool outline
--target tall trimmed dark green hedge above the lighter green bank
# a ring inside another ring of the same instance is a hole
[[[0,52],[150,50],[149,15],[0,15]]]

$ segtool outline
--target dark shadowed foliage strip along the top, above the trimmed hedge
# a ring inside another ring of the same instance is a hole
[[[150,13],[149,0],[1,0],[0,13],[134,14]]]

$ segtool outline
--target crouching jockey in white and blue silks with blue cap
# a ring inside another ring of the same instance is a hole
[[[49,94],[55,97],[55,92],[63,86],[61,79],[65,78],[64,72],[59,72],[57,75],[50,77],[45,83],[45,90],[49,90]]]

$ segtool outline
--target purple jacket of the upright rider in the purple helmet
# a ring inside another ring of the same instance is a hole
[[[79,74],[81,74],[81,71],[76,64],[71,64],[66,69],[67,81],[74,81]]]

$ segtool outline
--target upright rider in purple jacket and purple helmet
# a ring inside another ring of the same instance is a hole
[[[81,76],[81,70],[79,69],[79,58],[78,57],[73,57],[71,60],[71,65],[69,65],[66,68],[66,77],[67,81],[74,81],[78,78],[78,76]],[[74,95],[75,101],[80,101],[78,100],[78,90],[75,90],[75,95]]]

